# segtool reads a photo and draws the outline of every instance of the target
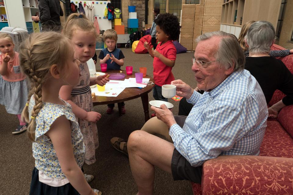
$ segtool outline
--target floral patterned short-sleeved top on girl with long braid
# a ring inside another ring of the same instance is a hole
[[[35,167],[42,171],[46,176],[52,178],[66,178],[63,174],[58,161],[56,151],[52,141],[45,135],[50,129],[52,123],[62,115],[71,122],[71,142],[75,160],[79,167],[84,163],[85,145],[83,137],[72,112],[71,105],[64,101],[66,105],[58,105],[49,102],[43,102],[43,107],[36,116],[35,142],[33,142],[33,156],[35,158]],[[34,98],[31,97],[29,104],[29,113],[34,107]]]

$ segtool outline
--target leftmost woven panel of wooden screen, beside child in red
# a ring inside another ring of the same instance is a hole
[[[192,50],[194,33],[195,4],[183,4],[181,16],[180,44],[187,50]]]

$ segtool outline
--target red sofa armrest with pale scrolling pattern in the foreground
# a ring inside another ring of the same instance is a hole
[[[203,165],[202,194],[293,194],[293,158],[219,156]]]

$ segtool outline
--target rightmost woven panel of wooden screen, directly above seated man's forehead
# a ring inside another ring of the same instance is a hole
[[[222,0],[205,0],[202,34],[220,30]]]

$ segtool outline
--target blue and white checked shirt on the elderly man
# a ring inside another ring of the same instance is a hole
[[[237,70],[210,92],[194,91],[183,128],[171,126],[175,148],[194,167],[219,155],[259,155],[268,109],[259,83]]]

